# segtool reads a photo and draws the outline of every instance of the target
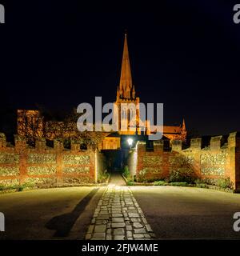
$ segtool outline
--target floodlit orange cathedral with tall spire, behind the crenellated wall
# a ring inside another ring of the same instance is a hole
[[[117,88],[117,97],[114,102],[114,111],[118,111],[118,132],[106,133],[103,131],[102,142],[98,143],[99,150],[118,150],[121,148],[121,138],[126,136],[150,135],[150,122],[148,120],[142,121],[139,113],[140,98],[137,97],[135,87],[132,80],[130,69],[130,57],[127,44],[127,37],[125,34],[123,54],[122,54],[122,69],[120,82]],[[126,106],[126,109],[122,110],[122,106]],[[134,110],[131,110],[129,106],[134,106]],[[134,130],[130,126],[130,114],[134,112]],[[115,113],[116,114],[116,113]],[[37,123],[38,122],[38,123]],[[56,133],[56,129],[50,128],[58,127],[57,130],[63,130],[63,132]],[[121,129],[125,127],[125,129]],[[64,126],[63,122],[44,122],[44,117],[40,117],[38,110],[18,110],[18,135],[33,134],[36,138],[72,138],[74,134],[79,133],[76,129],[75,123],[70,123]],[[66,129],[66,130],[65,130]],[[186,140],[186,125],[185,121],[179,126],[163,126],[163,138],[167,140],[178,139]],[[93,132],[94,133],[94,132]]]

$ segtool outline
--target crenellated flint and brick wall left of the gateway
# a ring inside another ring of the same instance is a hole
[[[0,186],[94,183],[97,154],[93,148],[80,150],[77,142],[71,143],[70,150],[58,140],[54,140],[54,147],[46,146],[44,139],[32,147],[19,136],[11,146],[0,134]]]

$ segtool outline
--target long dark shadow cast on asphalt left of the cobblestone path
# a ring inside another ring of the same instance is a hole
[[[99,188],[91,190],[89,194],[86,195],[74,210],[68,214],[62,214],[51,218],[49,222],[46,223],[46,228],[49,230],[56,230],[54,237],[66,237],[70,233],[70,230],[74,226],[80,214],[86,208],[90,199],[93,198],[94,194],[98,192]]]

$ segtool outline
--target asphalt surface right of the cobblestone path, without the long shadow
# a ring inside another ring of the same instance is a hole
[[[132,186],[160,239],[240,239],[233,230],[240,194],[173,186]]]

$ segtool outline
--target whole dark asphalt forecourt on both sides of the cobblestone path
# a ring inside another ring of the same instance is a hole
[[[240,239],[240,232],[233,230],[240,194],[173,186],[130,189],[160,239]],[[0,239],[83,239],[104,190],[70,187],[0,194],[0,212],[6,217]]]

